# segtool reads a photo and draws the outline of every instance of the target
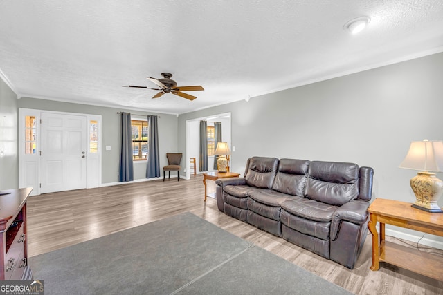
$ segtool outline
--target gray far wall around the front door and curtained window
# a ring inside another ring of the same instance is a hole
[[[102,115],[102,184],[118,182],[119,158],[119,122],[117,112],[124,111],[140,115],[159,115],[159,149],[160,166],[168,164],[167,152],[177,151],[177,116],[143,111],[125,110],[120,108],[107,108],[102,106],[89,106],[84,104],[71,104],[67,102],[54,102],[52,100],[23,97],[18,100],[19,108],[33,108],[45,111],[59,111],[66,113],[85,113]],[[111,146],[111,151],[105,147]],[[163,169],[161,168],[161,173]],[[134,162],[134,180],[145,179],[146,162]]]

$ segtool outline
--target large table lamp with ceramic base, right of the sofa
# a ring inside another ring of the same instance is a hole
[[[443,194],[443,181],[435,173],[428,172],[443,171],[443,141],[411,142],[408,154],[399,167],[420,171],[410,180],[410,187],[417,198],[412,207],[432,213],[443,212],[437,204]]]

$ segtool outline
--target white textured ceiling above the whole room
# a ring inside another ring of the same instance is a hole
[[[368,28],[343,30],[361,15]],[[180,114],[442,51],[442,0],[0,1],[18,97]],[[205,91],[122,87],[162,72]]]

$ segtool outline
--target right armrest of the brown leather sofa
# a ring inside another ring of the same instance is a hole
[[[332,216],[331,240],[335,240],[340,229],[341,221],[346,220],[356,225],[363,225],[368,221],[368,207],[370,202],[352,200],[338,207]]]

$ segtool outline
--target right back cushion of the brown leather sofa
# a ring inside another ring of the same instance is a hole
[[[305,197],[341,206],[359,196],[359,166],[314,161],[309,165]]]

